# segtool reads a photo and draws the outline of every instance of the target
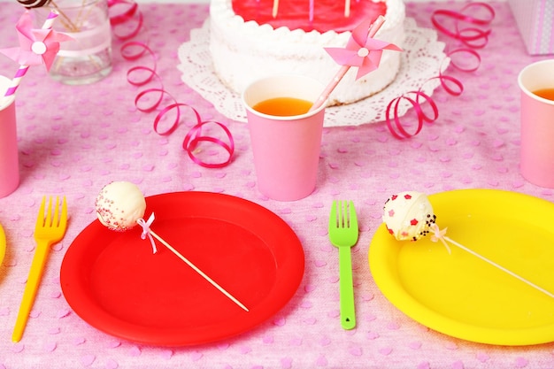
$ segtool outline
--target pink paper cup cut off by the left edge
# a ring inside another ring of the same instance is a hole
[[[0,76],[0,198],[19,186],[18,137],[15,121],[15,96],[4,97],[11,81]]]

